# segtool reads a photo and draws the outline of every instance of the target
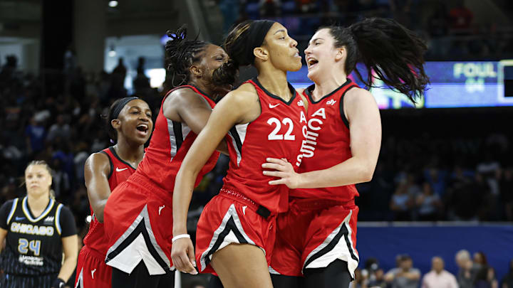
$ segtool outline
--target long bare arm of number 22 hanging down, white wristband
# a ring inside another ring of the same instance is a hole
[[[207,125],[199,133],[194,144],[187,152],[182,166],[180,166],[173,191],[174,236],[187,233],[187,210],[189,209],[195,179],[217,144],[234,124],[250,122],[260,114],[256,93],[244,89],[247,89],[247,87],[241,86],[237,90],[229,92],[216,105]],[[189,239],[175,240],[172,245],[171,257],[177,270],[195,273],[192,266],[194,251]]]

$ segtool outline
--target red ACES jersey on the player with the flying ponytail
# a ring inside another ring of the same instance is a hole
[[[299,167],[300,173],[327,169],[352,157],[349,122],[343,112],[343,97],[353,87],[358,85],[348,79],[341,87],[318,101],[314,101],[311,97],[314,85],[304,90],[304,95],[309,101],[309,120],[306,139],[301,146],[303,158]],[[345,202],[358,196],[358,191],[354,185],[299,188],[292,190],[290,196]]]

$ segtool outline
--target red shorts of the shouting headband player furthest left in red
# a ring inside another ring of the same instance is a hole
[[[112,281],[112,267],[105,265],[105,255],[82,247],[78,254],[75,288],[95,287],[110,288]]]

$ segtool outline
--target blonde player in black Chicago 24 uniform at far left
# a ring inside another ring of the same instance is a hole
[[[71,211],[53,198],[51,183],[48,164],[31,161],[25,169],[27,195],[0,208],[0,243],[6,240],[0,287],[62,288],[75,270],[75,220]]]

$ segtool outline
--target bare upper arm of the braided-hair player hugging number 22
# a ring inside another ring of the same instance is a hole
[[[172,97],[167,97],[164,101],[164,116],[173,121],[185,122],[192,132],[199,134],[212,114],[212,108],[207,100],[186,88],[175,90],[172,94]],[[220,142],[216,149],[228,154],[228,146],[224,141]]]

